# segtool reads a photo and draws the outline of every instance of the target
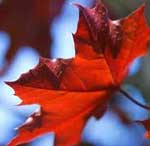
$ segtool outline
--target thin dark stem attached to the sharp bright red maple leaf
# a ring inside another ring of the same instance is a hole
[[[146,109],[146,110],[150,110],[149,106],[146,106],[142,103],[140,103],[139,101],[135,100],[128,92],[126,92],[125,90],[120,88],[120,93],[122,93],[127,99],[129,99],[130,101],[132,101],[133,103],[135,103],[136,105]]]

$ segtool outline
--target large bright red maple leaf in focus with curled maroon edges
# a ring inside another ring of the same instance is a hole
[[[102,3],[92,9],[76,5],[80,18],[74,35],[75,58],[41,58],[36,68],[7,83],[22,104],[40,105],[9,146],[30,142],[50,131],[55,133],[56,146],[78,143],[87,119],[102,116],[129,64],[146,53],[149,28],[144,6],[112,21]]]

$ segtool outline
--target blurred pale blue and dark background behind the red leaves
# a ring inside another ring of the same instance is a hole
[[[0,4],[3,1],[5,0],[0,1]],[[145,2],[145,15],[148,24],[150,24],[150,0],[103,1],[107,5],[112,19],[119,19],[129,15]],[[60,15],[54,19],[50,28],[53,40],[51,45],[52,56],[54,58],[74,56],[74,44],[71,33],[76,31],[78,10],[70,3],[76,2],[89,7],[94,4],[94,0],[65,1]],[[8,49],[10,41],[8,36],[9,34],[6,32],[0,32],[0,66],[3,66],[3,56]],[[70,51],[68,51],[68,48]],[[37,105],[13,106],[20,102],[20,99],[12,95],[14,91],[6,86],[4,81],[16,80],[20,74],[27,72],[38,63],[38,57],[38,53],[33,48],[22,47],[9,70],[4,76],[0,77],[0,146],[6,146],[8,141],[16,135],[14,128],[24,122],[37,108]],[[150,49],[145,57],[135,60],[131,65],[129,76],[122,87],[141,103],[150,105]],[[121,109],[126,117],[123,117],[123,114],[119,116],[113,108],[114,105],[117,109]],[[82,140],[94,146],[149,146],[150,141],[143,136],[145,129],[137,124],[127,124],[130,119],[141,120],[148,118],[148,116],[150,116],[148,111],[131,103],[118,93],[112,99],[110,107],[102,119],[97,120],[94,117],[89,119],[83,131]],[[28,146],[52,146],[53,143],[54,133],[48,133],[37,138]],[[90,144],[81,145],[90,146]]]

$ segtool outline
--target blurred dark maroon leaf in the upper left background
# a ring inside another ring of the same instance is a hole
[[[6,53],[7,64],[11,63],[21,46],[31,46],[41,56],[49,57],[50,24],[63,3],[64,0],[5,0],[0,4],[0,30],[11,38]]]

